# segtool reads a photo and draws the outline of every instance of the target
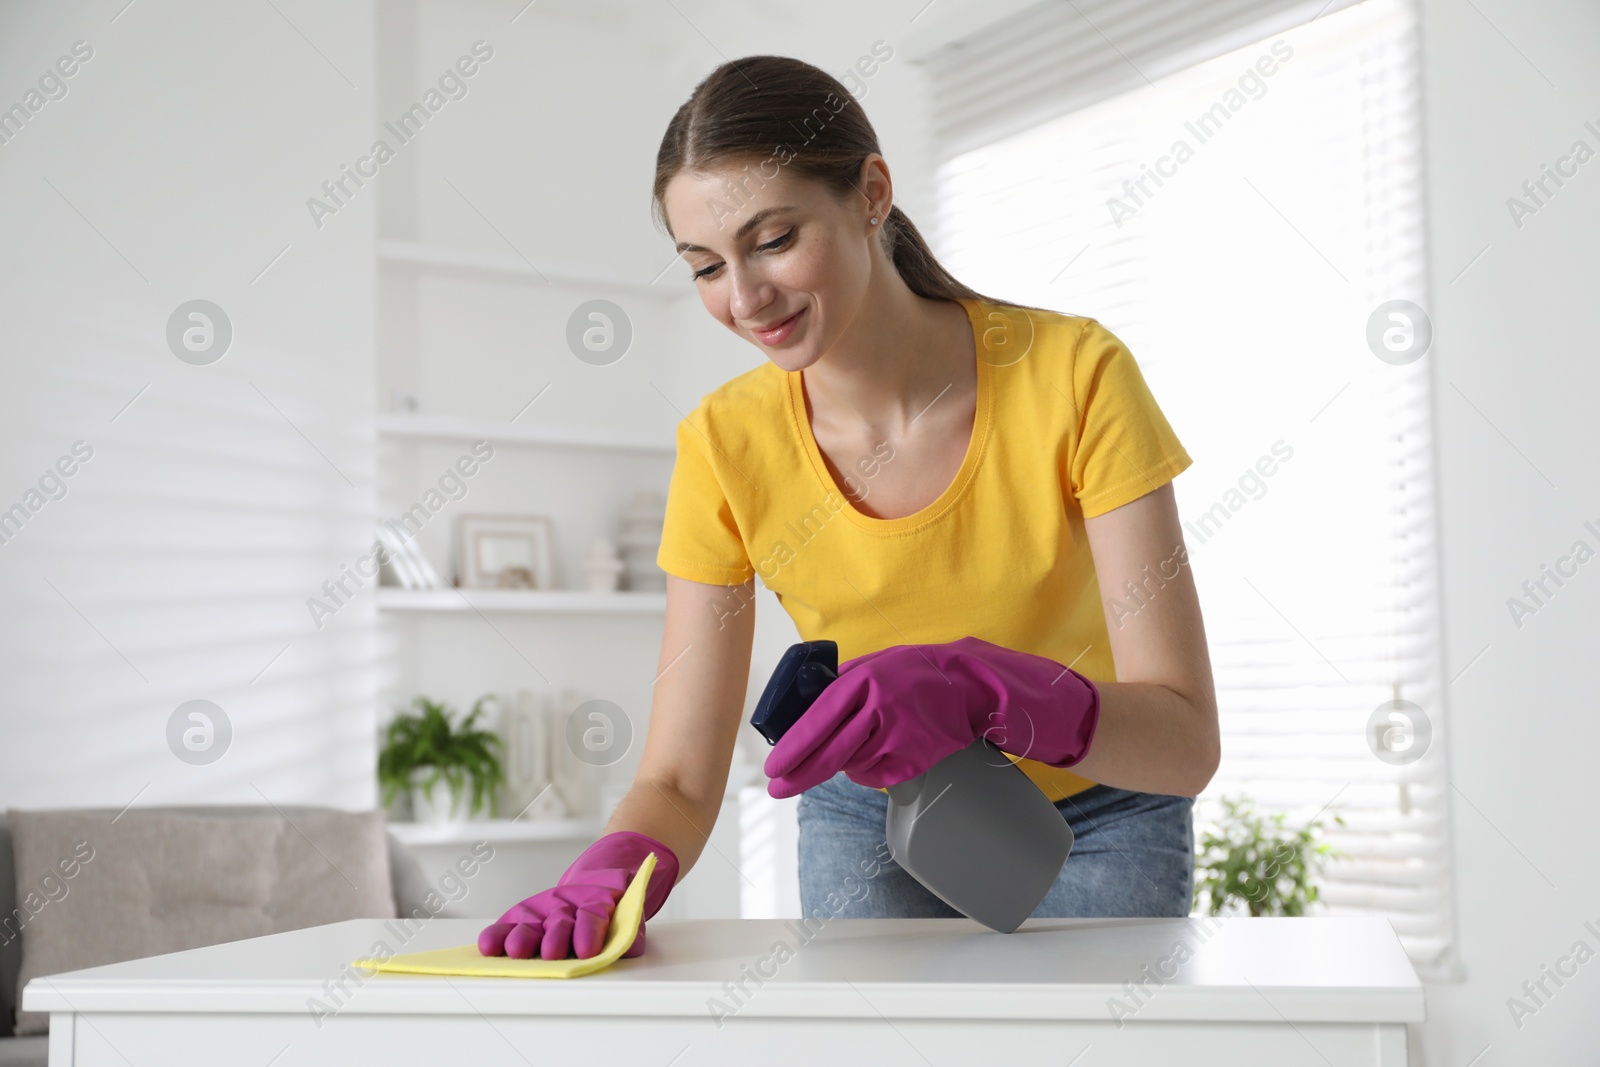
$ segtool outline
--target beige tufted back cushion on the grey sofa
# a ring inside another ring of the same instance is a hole
[[[381,811],[11,809],[10,822],[18,989],[61,971],[395,917]],[[18,1009],[19,1035],[46,1030],[46,1014]]]

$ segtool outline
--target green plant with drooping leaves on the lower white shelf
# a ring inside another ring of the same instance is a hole
[[[453,707],[418,696],[411,701],[414,713],[400,712],[389,721],[378,752],[378,782],[384,806],[411,789],[413,771],[427,771],[414,781],[419,789],[432,790],[437,782],[445,781],[454,806],[470,785],[469,814],[477,814],[485,806],[491,816],[496,814],[494,792],[506,781],[499,760],[502,745],[493,729],[478,726],[490,699],[490,693],[480,696],[472,712],[459,725],[453,725]]]

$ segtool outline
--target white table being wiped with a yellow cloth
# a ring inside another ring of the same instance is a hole
[[[581,979],[347,969],[374,942],[442,949],[482,923],[413,925],[408,939],[357,920],[72,971],[29,982],[22,1005],[51,1013],[51,1067],[1395,1067],[1405,1024],[1424,1017],[1382,920],[1029,920],[995,934],[965,918],[834,918],[810,939],[797,920],[701,920],[651,923],[643,957]],[[731,1014],[715,1019],[717,1001]]]

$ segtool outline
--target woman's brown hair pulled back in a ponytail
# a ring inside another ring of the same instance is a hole
[[[837,197],[851,190],[859,194],[856,178],[872,152],[878,152],[878,134],[867,114],[826,70],[789,56],[731,59],[706,75],[667,123],[656,154],[653,214],[658,226],[670,232],[664,203],[667,182],[685,168],[710,170],[739,162],[776,160],[826,184]],[[771,174],[757,173],[749,181],[758,186],[763,178]],[[1016,307],[957,280],[934,259],[928,242],[898,206],[890,208],[878,240],[906,286],[918,296],[971,298]]]

